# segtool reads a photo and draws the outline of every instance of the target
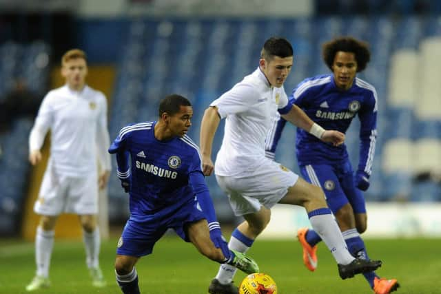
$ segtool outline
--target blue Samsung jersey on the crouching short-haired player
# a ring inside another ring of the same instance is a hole
[[[134,220],[137,217],[141,220],[145,213],[152,214],[193,199],[191,174],[200,173],[203,178],[201,156],[192,139],[185,135],[157,140],[155,124],[124,127],[109,149],[110,153],[125,154],[127,158],[127,163],[119,162],[119,174],[131,177],[130,213]]]

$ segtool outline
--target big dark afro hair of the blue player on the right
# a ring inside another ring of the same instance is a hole
[[[371,60],[369,44],[353,39],[351,36],[343,36],[324,43],[322,46],[322,56],[329,70],[332,70],[334,59],[338,51],[351,52],[355,54],[357,61],[357,72],[365,70],[367,63]]]

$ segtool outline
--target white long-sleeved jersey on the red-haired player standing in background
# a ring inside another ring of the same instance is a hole
[[[68,176],[97,172],[97,154],[103,170],[110,170],[107,101],[103,93],[87,85],[81,91],[68,85],[43,98],[30,133],[29,148],[41,149],[51,131],[49,165]]]

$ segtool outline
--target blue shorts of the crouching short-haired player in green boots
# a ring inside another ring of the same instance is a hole
[[[190,199],[152,214],[130,216],[119,239],[116,254],[136,257],[149,255],[167,229],[174,229],[179,237],[189,242],[185,234],[185,224],[206,218],[196,204],[195,199]]]

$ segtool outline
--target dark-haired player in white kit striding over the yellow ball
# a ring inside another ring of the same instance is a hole
[[[323,191],[278,162],[265,158],[265,138],[277,111],[329,144],[341,145],[345,139],[338,131],[322,129],[288,101],[283,83],[291,71],[293,54],[286,39],[268,39],[258,68],[205,110],[201,124],[203,171],[207,176],[215,171],[218,185],[227,193],[234,213],[245,218],[232,233],[230,249],[245,253],[252,246],[267,226],[274,204],[300,205],[305,207],[312,227],[334,255],[340,277],[346,279],[376,269],[381,262],[353,258],[327,207]],[[214,168],[212,143],[222,118],[226,118],[225,134]],[[234,266],[222,264],[209,285],[209,293],[238,293],[232,284],[235,273]]]

